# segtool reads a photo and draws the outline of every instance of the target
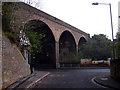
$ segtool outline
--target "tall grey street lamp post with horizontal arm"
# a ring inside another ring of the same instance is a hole
[[[111,30],[112,30],[112,40],[113,40],[113,60],[115,60],[115,48],[114,48],[114,34],[113,34],[113,23],[112,23],[112,11],[111,11],[111,3],[92,3],[92,5],[109,5],[110,7],[110,18],[111,18]],[[114,76],[116,78],[116,63],[115,63],[115,67],[114,67]]]

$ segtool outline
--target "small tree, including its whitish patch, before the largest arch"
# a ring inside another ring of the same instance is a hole
[[[36,26],[32,24],[24,25],[23,34],[21,37],[23,47],[29,48],[30,53],[33,55],[41,52],[41,40],[45,37],[45,35],[35,32],[35,28]]]

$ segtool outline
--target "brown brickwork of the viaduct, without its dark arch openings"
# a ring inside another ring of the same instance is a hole
[[[31,20],[40,20],[48,25],[51,29],[54,38],[55,38],[55,52],[56,52],[56,65],[59,67],[59,39],[62,33],[65,31],[69,31],[75,40],[76,49],[78,49],[78,43],[81,37],[84,37],[86,40],[88,39],[88,34],[53,17],[43,11],[40,11],[34,7],[31,7],[25,3],[17,3],[19,9],[16,11],[17,20],[16,25],[18,29],[20,24],[26,24]]]

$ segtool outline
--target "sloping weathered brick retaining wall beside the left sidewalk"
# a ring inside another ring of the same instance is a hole
[[[29,65],[26,64],[16,45],[2,36],[2,84],[3,88],[30,74]]]

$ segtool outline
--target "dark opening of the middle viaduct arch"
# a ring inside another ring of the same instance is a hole
[[[70,56],[76,53],[76,42],[70,31],[64,31],[59,38],[60,62],[68,60]]]

